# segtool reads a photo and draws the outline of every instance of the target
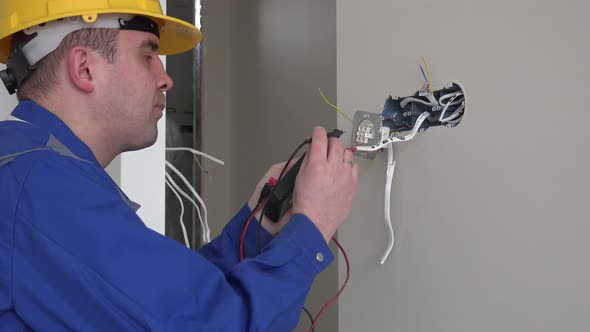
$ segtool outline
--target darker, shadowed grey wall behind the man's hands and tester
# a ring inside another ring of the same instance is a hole
[[[203,179],[212,236],[313,126],[336,126],[336,113],[317,92],[336,95],[335,4],[204,2],[203,150],[227,162],[210,167],[211,177]],[[317,313],[337,290],[334,263],[316,280],[308,309]],[[336,324],[334,305],[318,330],[335,331]],[[303,320],[300,330],[308,327]]]

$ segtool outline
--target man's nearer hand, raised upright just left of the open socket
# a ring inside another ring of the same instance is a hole
[[[358,173],[353,154],[342,141],[328,139],[324,128],[314,128],[295,182],[290,212],[307,216],[329,242],[350,213]]]

